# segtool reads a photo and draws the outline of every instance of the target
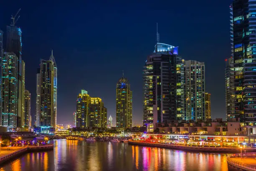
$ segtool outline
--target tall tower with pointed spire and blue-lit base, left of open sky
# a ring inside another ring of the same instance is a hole
[[[36,116],[37,126],[40,126],[41,133],[51,133],[56,128],[56,100],[54,97],[56,85],[55,71],[57,70],[53,54],[50,60],[41,60],[40,68],[36,75]]]

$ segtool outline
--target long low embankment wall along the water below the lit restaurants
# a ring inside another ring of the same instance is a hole
[[[198,147],[198,146],[179,146],[173,144],[165,144],[165,143],[146,143],[139,141],[129,141],[131,145],[137,146],[148,146],[148,147],[157,147],[157,148],[169,148],[173,150],[182,150],[182,151],[197,151],[197,152],[206,152],[206,153],[239,153],[241,151],[240,148],[232,148],[232,147]],[[243,151],[246,152],[256,152],[256,148],[243,148]]]

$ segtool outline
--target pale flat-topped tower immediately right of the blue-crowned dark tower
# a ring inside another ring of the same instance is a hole
[[[184,62],[185,120],[205,120],[205,63]]]

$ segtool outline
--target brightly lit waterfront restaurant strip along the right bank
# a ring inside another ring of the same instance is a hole
[[[187,146],[216,146],[216,147],[253,147],[256,145],[254,136],[212,136],[184,134],[142,134],[138,141],[151,143],[172,143]]]

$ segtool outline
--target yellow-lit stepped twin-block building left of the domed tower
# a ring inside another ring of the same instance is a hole
[[[107,128],[107,108],[101,98],[90,97],[85,90],[77,96],[77,110],[74,116],[74,125],[77,128]]]

